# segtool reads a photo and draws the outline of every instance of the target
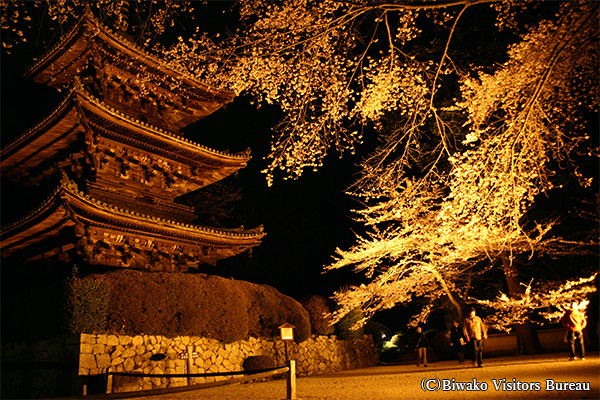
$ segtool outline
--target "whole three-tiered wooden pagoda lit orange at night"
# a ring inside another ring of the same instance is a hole
[[[197,226],[194,208],[176,202],[250,159],[183,137],[232,93],[168,66],[89,12],[25,76],[66,96],[0,151],[2,176],[56,188],[2,227],[2,257],[180,272],[260,244],[262,226]]]

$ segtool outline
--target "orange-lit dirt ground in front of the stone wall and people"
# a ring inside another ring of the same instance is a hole
[[[568,361],[568,355],[560,353],[499,357],[484,360],[484,363],[483,368],[474,368],[469,362],[459,365],[455,361],[434,362],[427,368],[413,364],[382,365],[299,377],[297,398],[303,400],[600,398],[600,357],[597,352],[588,354],[583,361]],[[573,385],[569,387],[564,382]],[[463,386],[462,390],[461,386]],[[279,379],[143,398],[148,400],[281,400],[286,397],[286,381]]]

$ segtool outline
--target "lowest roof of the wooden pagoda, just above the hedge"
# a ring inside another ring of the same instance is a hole
[[[79,238],[76,244],[67,241],[35,250],[41,248],[39,243],[68,229]],[[264,236],[262,226],[215,229],[119,209],[79,191],[65,174],[37,209],[2,228],[0,251],[9,256],[26,250],[29,259],[36,259],[75,248],[90,264],[177,271],[215,264],[259,245]],[[125,253],[130,255],[125,257]]]

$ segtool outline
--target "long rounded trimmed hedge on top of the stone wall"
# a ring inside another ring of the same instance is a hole
[[[224,343],[249,336],[274,337],[286,322],[296,327],[295,339],[310,336],[308,312],[294,299],[266,285],[205,274],[172,274],[121,270],[90,275],[71,287],[109,287],[106,315],[85,292],[71,291],[68,302],[79,310],[69,321],[73,333],[201,336]],[[93,321],[89,321],[92,318]],[[87,322],[83,323],[86,319]]]

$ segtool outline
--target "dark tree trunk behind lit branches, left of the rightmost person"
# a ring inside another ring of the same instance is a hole
[[[502,255],[502,269],[506,277],[506,285],[509,297],[517,297],[524,293],[523,285],[519,279],[517,269],[510,260],[507,253]],[[543,353],[542,345],[533,324],[526,321],[523,324],[515,325],[517,334],[517,347],[519,354],[539,354]]]

